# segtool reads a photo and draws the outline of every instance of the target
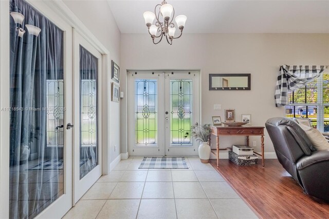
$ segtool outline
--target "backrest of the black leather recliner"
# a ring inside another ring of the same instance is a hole
[[[265,126],[281,165],[300,182],[296,161],[316,151],[305,131],[295,121],[283,117],[268,119]]]

